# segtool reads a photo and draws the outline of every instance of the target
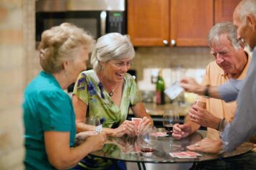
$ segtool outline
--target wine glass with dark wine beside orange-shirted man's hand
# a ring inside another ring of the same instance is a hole
[[[179,124],[179,113],[175,110],[164,111],[163,126],[167,134],[172,134],[174,124]]]

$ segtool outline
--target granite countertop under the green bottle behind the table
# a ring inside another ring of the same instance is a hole
[[[181,104],[178,106],[177,104],[163,104],[157,105],[154,103],[144,103],[145,109],[148,114],[151,116],[163,116],[165,110],[174,109],[179,112],[179,116],[185,116],[191,107],[190,104]],[[133,114],[133,112],[129,111],[129,114]]]

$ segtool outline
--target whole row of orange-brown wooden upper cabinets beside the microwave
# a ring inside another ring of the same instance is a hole
[[[128,0],[134,46],[207,46],[214,23],[232,21],[238,0]]]

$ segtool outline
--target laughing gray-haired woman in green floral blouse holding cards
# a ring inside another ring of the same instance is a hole
[[[135,136],[144,126],[153,124],[141,102],[136,81],[127,73],[134,56],[128,36],[110,33],[98,39],[91,56],[93,70],[80,74],[72,97],[78,132],[96,128],[85,124],[85,116],[105,119],[102,131],[115,137]],[[126,120],[130,106],[134,115],[142,118],[138,131],[133,121]],[[101,163],[105,167],[111,164]]]

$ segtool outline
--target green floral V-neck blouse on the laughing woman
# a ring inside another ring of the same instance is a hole
[[[125,74],[120,107],[116,106],[94,70],[82,71],[75,83],[74,94],[87,104],[89,117],[105,119],[103,127],[116,128],[125,121],[130,106],[141,102],[136,81]]]

